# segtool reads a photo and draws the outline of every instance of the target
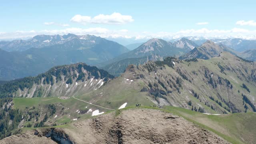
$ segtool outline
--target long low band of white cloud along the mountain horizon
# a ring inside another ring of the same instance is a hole
[[[218,29],[188,29],[177,32],[130,32],[125,29],[110,30],[107,28],[65,28],[60,30],[41,30],[41,31],[16,31],[16,32],[0,32],[0,39],[12,38],[27,38],[38,34],[54,35],[54,34],[77,34],[85,35],[91,34],[103,38],[135,38],[135,39],[149,39],[162,38],[166,40],[182,38],[184,36],[198,36],[204,38],[244,38],[256,39],[256,30],[247,30],[242,28],[232,28],[230,30]]]

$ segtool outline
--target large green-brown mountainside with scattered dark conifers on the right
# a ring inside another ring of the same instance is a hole
[[[209,113],[256,110],[256,65],[228,52],[210,60],[165,58],[130,66],[124,76],[138,76],[144,82],[141,91],[160,106],[200,107]]]

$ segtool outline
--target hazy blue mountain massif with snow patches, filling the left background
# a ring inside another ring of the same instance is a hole
[[[98,64],[129,51],[104,38],[74,34],[40,35],[31,40],[1,42],[1,48],[11,52],[0,50],[0,80],[35,76],[63,64]]]

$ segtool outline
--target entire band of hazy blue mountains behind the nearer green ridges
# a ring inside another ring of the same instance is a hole
[[[152,38],[128,48],[92,35],[38,35],[28,40],[0,42],[0,80],[35,76],[48,68],[86,62],[119,76],[129,64],[163,60],[167,56],[181,59],[209,59],[227,51],[247,60],[256,60],[256,40],[186,37],[172,42]],[[244,51],[245,50],[245,51]]]

